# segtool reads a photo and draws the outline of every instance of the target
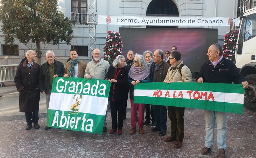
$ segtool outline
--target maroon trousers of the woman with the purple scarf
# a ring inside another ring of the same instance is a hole
[[[138,126],[139,128],[142,128],[143,120],[144,120],[145,104],[134,103],[134,100],[131,99],[131,128],[136,128],[138,110],[139,110]]]

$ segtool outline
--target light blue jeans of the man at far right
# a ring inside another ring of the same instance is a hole
[[[217,145],[218,149],[226,150],[226,134],[227,134],[227,112],[204,110],[205,116],[205,146],[212,148],[214,124],[217,124]]]

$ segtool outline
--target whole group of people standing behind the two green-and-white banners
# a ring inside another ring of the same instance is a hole
[[[245,81],[237,70],[235,64],[222,55],[222,47],[212,44],[207,52],[209,61],[202,65],[200,72],[196,76],[197,82],[242,84],[243,88],[248,88]],[[26,61],[17,68],[15,75],[15,85],[20,92],[19,104],[20,112],[25,112],[27,127],[32,128],[32,123],[36,129],[38,125],[39,99],[41,94],[46,95],[47,110],[49,108],[50,93],[54,77],[85,77],[87,79],[104,79],[111,83],[109,93],[109,103],[111,107],[111,130],[110,134],[117,132],[122,134],[123,120],[126,119],[126,106],[128,93],[130,91],[131,100],[131,131],[136,132],[136,123],[139,126],[139,133],[144,134],[143,126],[150,125],[151,131],[160,131],[159,136],[166,135],[167,131],[167,111],[171,121],[171,134],[165,138],[165,142],[175,141],[174,147],[180,148],[184,139],[184,109],[181,107],[164,105],[145,105],[134,103],[134,85],[146,82],[192,82],[190,69],[183,64],[181,53],[177,47],[173,46],[171,52],[157,49],[152,53],[147,50],[143,55],[135,54],[132,50],[127,53],[127,59],[119,55],[114,59],[113,64],[101,59],[101,51],[94,49],[92,61],[86,64],[79,61],[76,49],[70,50],[70,61],[66,67],[62,62],[55,60],[52,51],[46,52],[47,62],[41,66],[35,63],[35,52],[26,52]],[[146,111],[145,122],[144,113]],[[217,145],[219,149],[218,157],[225,157],[226,132],[227,132],[227,113],[218,111],[204,110],[206,121],[205,147],[201,154],[206,155],[211,151],[213,145],[213,132],[215,121],[217,123]],[[151,119],[151,117],[152,119]],[[107,131],[106,123],[107,112],[105,115],[103,132]],[[45,127],[49,129],[50,127]]]

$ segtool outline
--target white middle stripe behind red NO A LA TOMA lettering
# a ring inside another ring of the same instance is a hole
[[[168,97],[165,96],[167,91],[169,92],[169,98],[173,98],[173,96],[177,96],[177,98],[181,98],[181,96],[178,97],[180,90],[160,90],[162,92],[162,95],[159,90],[134,90],[134,96],[146,96],[146,97],[155,97],[153,94],[155,91],[158,91],[158,97]],[[174,94],[175,91],[175,94]],[[196,91],[193,91],[191,94],[191,98],[189,93],[187,93],[187,90],[181,90],[183,99],[195,99],[198,97],[198,94],[201,95],[201,92],[207,93],[207,97],[209,97],[210,91],[198,91],[199,93],[195,93]],[[195,94],[195,95],[194,95]],[[226,94],[226,95],[225,95]],[[226,103],[244,103],[244,94],[238,94],[238,93],[222,93],[222,92],[212,92],[212,96],[214,97],[215,102],[226,102]],[[202,96],[201,99],[198,100],[205,100],[205,97]],[[211,98],[209,101],[213,101]]]

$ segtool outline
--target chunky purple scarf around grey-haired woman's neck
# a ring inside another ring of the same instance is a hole
[[[134,80],[143,80],[149,75],[149,69],[142,67],[135,67],[134,65],[131,66],[129,76]]]

